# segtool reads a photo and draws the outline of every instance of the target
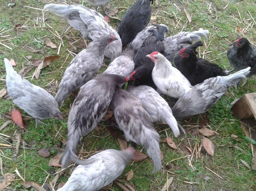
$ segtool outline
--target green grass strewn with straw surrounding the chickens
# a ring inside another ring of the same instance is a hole
[[[43,59],[44,56],[48,55],[56,55],[58,52],[57,49],[51,49],[50,47],[44,44],[44,37],[48,37],[51,39],[53,43],[58,47],[60,45],[60,39],[58,39],[54,34],[55,31],[58,34],[62,33],[62,30],[68,23],[59,18],[58,16],[45,12],[44,19],[47,24],[46,28],[40,28],[43,26],[42,20],[42,11],[27,8],[25,6],[30,6],[34,8],[43,8],[45,4],[48,3],[58,3],[58,1],[48,1],[48,0],[20,0],[15,2],[15,6],[7,7],[9,1],[4,0],[0,6],[0,31],[9,30],[6,33],[0,34],[1,43],[11,47],[13,50],[7,49],[6,47],[0,45],[0,77],[4,79],[5,69],[3,58],[6,57],[8,59],[13,58],[17,67],[15,67],[16,71],[22,69],[22,65],[26,66],[28,61],[25,59],[28,56],[32,56],[29,61],[34,59]],[[125,14],[127,8],[131,6],[132,0],[124,1],[112,1],[112,7],[119,8],[119,12],[117,15],[122,18]],[[81,4],[81,1],[76,0],[73,3]],[[180,8],[178,10],[174,3]],[[211,3],[211,7],[209,9],[209,5]],[[84,5],[86,3],[84,2]],[[225,6],[228,6],[225,8]],[[197,0],[189,1],[169,1],[169,0],[158,0],[152,6],[153,16],[157,16],[156,20],[153,20],[152,23],[156,24],[166,24],[169,26],[169,36],[175,35],[179,33],[181,30],[183,31],[191,31],[197,30],[198,28],[204,28],[210,31],[209,40],[206,43],[205,47],[200,48],[200,56],[202,57],[202,53],[210,52],[204,55],[205,59],[214,60],[213,62],[220,65],[221,67],[227,67],[230,69],[228,64],[228,59],[225,51],[229,48],[229,43],[235,41],[239,34],[235,28],[238,26],[242,30],[244,29],[244,34],[252,43],[255,44],[255,36],[256,36],[256,24],[253,22],[250,14],[256,20],[256,10],[254,6],[254,1],[220,1],[220,0],[211,0],[211,1],[203,1]],[[183,12],[183,8],[191,15],[191,23],[187,22],[187,18],[185,13]],[[225,8],[225,9],[224,9]],[[99,9],[101,12],[101,9]],[[163,12],[164,11],[164,12]],[[239,12],[238,12],[239,11]],[[165,13],[167,12],[167,13]],[[250,12],[250,14],[249,14]],[[239,16],[240,13],[240,16]],[[177,18],[177,19],[176,19]],[[21,29],[12,29],[15,24],[25,24],[26,28]],[[110,24],[117,28],[119,21],[110,18]],[[237,24],[238,23],[238,24]],[[251,25],[249,25],[251,23]],[[254,23],[254,26],[252,26]],[[249,27],[248,27],[249,26]],[[248,30],[245,30],[245,29]],[[4,30],[3,30],[4,29]],[[51,33],[51,32],[52,33]],[[1,32],[0,32],[1,33]],[[2,37],[4,35],[10,35],[8,37]],[[78,32],[71,29],[64,35],[68,35],[72,37],[72,39],[63,38],[64,47],[60,49],[60,58],[53,63],[51,63],[48,67],[42,69],[40,78],[36,80],[35,78],[31,80],[31,77],[27,78],[35,85],[39,85],[40,87],[46,88],[48,91],[55,95],[54,93],[57,91],[57,82],[61,80],[61,77],[65,71],[65,68],[73,58],[69,55],[69,51],[73,53],[79,53],[83,48],[77,48],[80,43],[82,43],[82,39],[78,35]],[[13,38],[13,39],[11,39]],[[10,39],[7,41],[3,41],[5,39]],[[71,43],[73,46],[71,46]],[[42,49],[44,54],[41,53],[31,53],[27,50],[27,46],[33,49]],[[206,47],[208,48],[206,49]],[[223,53],[223,54],[221,54]],[[67,56],[69,57],[67,58]],[[67,58],[67,61],[65,62]],[[108,63],[109,61],[106,61]],[[63,64],[63,67],[60,68]],[[35,67],[32,65],[28,66],[31,69],[25,76],[32,76]],[[102,67],[99,71],[101,73],[104,71],[106,67]],[[49,73],[52,72],[52,73]],[[43,75],[42,75],[43,74]],[[52,80],[54,80],[50,85]],[[48,86],[46,86],[48,85]],[[0,81],[0,89],[5,87],[5,81]],[[233,87],[229,89],[223,95],[223,97],[217,102],[208,112],[205,113],[209,122],[208,125],[215,130],[218,134],[215,136],[211,136],[210,139],[214,143],[215,153],[214,156],[209,156],[202,150],[199,152],[199,147],[201,144],[201,140],[203,138],[202,134],[197,134],[196,136],[192,136],[191,131],[187,129],[187,137],[185,139],[183,135],[179,138],[173,138],[176,145],[179,145],[177,150],[173,150],[166,143],[160,143],[161,151],[163,152],[163,167],[164,169],[171,171],[176,175],[168,174],[168,177],[174,176],[173,183],[169,187],[169,190],[255,190],[256,189],[256,180],[255,180],[255,172],[249,170],[247,167],[241,164],[240,159],[246,161],[249,165],[252,164],[252,152],[251,147],[248,140],[245,140],[243,137],[244,132],[240,127],[239,121],[235,118],[235,116],[231,113],[231,102],[234,99],[240,98],[245,93],[251,93],[256,91],[256,81],[253,78],[248,78],[247,83],[241,87],[237,87],[235,90]],[[15,104],[12,103],[11,100],[4,100],[0,98],[0,113],[10,114],[10,110],[13,107],[16,107]],[[74,97],[71,95],[64,102],[64,104],[60,107],[61,112],[64,116],[64,122],[67,123],[69,108],[73,103]],[[20,110],[20,109],[19,109]],[[27,115],[23,110],[20,110],[21,114]],[[198,125],[203,120],[204,114],[193,116],[192,118],[186,119],[181,122],[185,127],[186,125]],[[7,119],[2,119],[0,121],[0,125],[4,124]],[[13,156],[15,154],[15,148],[7,148],[0,149],[1,150],[1,159],[2,159],[2,173],[15,173],[15,169],[17,168],[21,176],[25,177],[26,181],[34,181],[40,185],[44,183],[47,177],[47,173],[45,173],[42,169],[49,172],[52,167],[48,166],[50,158],[55,156],[56,154],[63,152],[65,146],[61,143],[61,138],[67,138],[67,127],[63,126],[63,124],[59,120],[48,119],[43,120],[47,126],[39,124],[37,129],[35,129],[35,120],[31,119],[29,121],[25,121],[25,127],[27,130],[33,133],[25,132],[20,130],[18,126],[13,126],[13,124],[9,124],[5,127],[1,133],[11,136],[12,140],[15,140],[13,134],[15,132],[22,133],[22,139],[27,142],[27,148],[33,149],[23,149],[21,146],[19,150],[19,154],[17,158]],[[82,140],[83,142],[83,151],[96,151],[107,148],[115,148],[119,149],[118,140],[112,137],[107,129],[106,125],[109,125],[109,122],[102,122],[98,125],[99,132],[94,130],[87,136],[85,136]],[[158,132],[168,128],[167,126],[155,124],[156,130]],[[191,126],[189,126],[191,127]],[[187,128],[189,128],[187,127]],[[196,129],[196,127],[194,127]],[[171,130],[160,132],[161,139],[166,138],[166,136],[172,136]],[[166,135],[167,134],[167,135]],[[231,134],[237,135],[240,140],[236,141],[231,138]],[[124,139],[123,133],[121,131],[118,132],[118,136]],[[11,141],[8,139],[8,142]],[[7,144],[7,138],[1,136],[0,143]],[[15,141],[12,142],[15,147]],[[243,149],[244,152],[237,150],[233,147],[228,147],[228,145],[236,145],[239,148]],[[183,156],[187,156],[190,154],[189,150],[186,146],[190,147],[192,150],[196,148],[195,154],[191,160],[191,165],[189,166],[190,158],[181,158]],[[50,149],[50,157],[43,158],[37,154],[38,150],[41,148],[49,148]],[[81,146],[79,147],[81,148]],[[141,146],[136,146],[138,150],[141,150]],[[146,153],[145,150],[142,152]],[[200,155],[199,155],[200,154]],[[12,160],[8,159],[11,158]],[[178,159],[180,158],[180,159]],[[176,159],[176,160],[175,160]],[[173,160],[173,161],[172,161]],[[172,162],[169,162],[172,161]],[[168,165],[167,165],[168,163]],[[42,169],[36,166],[40,166]],[[193,166],[193,167],[192,167]],[[210,172],[206,167],[218,173],[223,180],[219,177],[216,177],[212,172]],[[55,171],[58,170],[57,167],[54,167]],[[138,191],[157,191],[161,190],[164,183],[167,180],[167,172],[163,171],[162,173],[152,174],[153,163],[150,158],[146,159],[142,162],[129,163],[125,171],[123,172],[120,179],[125,179],[125,174],[134,170],[134,177],[129,181]],[[58,183],[67,181],[69,177],[70,169],[65,172],[65,174],[59,179]],[[210,179],[205,181],[202,177],[208,176]],[[54,178],[53,175],[50,175],[49,180]],[[15,179],[19,179],[16,175]],[[191,182],[193,184],[189,184],[186,182]],[[58,184],[57,183],[57,184]],[[14,181],[8,186],[11,190],[27,190],[25,189],[19,181]],[[117,185],[112,185],[113,190],[121,190]],[[29,189],[31,190],[31,189]],[[33,190],[33,189],[32,189]]]

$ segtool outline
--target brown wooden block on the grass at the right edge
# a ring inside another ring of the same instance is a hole
[[[231,108],[239,119],[256,119],[256,93],[246,93]]]

